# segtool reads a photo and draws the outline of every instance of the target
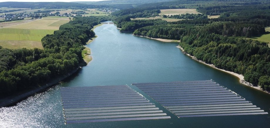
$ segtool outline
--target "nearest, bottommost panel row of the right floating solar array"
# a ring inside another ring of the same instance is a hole
[[[261,113],[228,113],[228,114],[207,114],[207,115],[181,115],[179,117],[203,117],[203,116],[226,116],[226,115],[259,115],[268,114],[267,112]]]

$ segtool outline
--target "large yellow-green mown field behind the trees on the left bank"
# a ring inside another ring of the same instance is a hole
[[[69,22],[68,17],[44,17],[27,23],[0,28],[0,46],[9,49],[40,48],[41,39],[53,34],[60,25]]]

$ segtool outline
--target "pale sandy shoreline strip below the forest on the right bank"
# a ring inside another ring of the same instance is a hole
[[[231,75],[234,75],[234,76],[238,77],[239,83],[244,84],[244,85],[249,86],[249,87],[252,87],[252,88],[254,88],[254,89],[258,89],[258,90],[260,90],[260,91],[263,91],[261,87],[259,87],[259,86],[255,87],[255,86],[253,86],[251,83],[245,81],[245,80],[244,80],[244,76],[243,76],[242,74],[237,74],[237,73],[235,73],[235,72],[231,72],[231,71],[227,71],[227,70],[224,70],[224,69],[217,68],[217,67],[215,67],[215,65],[213,65],[213,64],[207,64],[207,63],[205,63],[205,62],[202,61],[202,60],[198,60],[195,56],[191,56],[190,54],[186,53],[186,52],[184,51],[184,49],[183,49],[181,46],[178,45],[178,46],[176,46],[176,47],[179,48],[179,49],[181,49],[181,51],[182,51],[184,54],[186,54],[187,56],[190,56],[192,59],[194,59],[194,60],[196,60],[196,61],[198,61],[198,62],[200,62],[200,63],[203,63],[203,64],[205,64],[205,65],[208,65],[208,66],[212,67],[212,68],[215,68],[215,69],[220,70],[220,71],[223,71],[223,72],[227,72],[227,73],[229,73],[229,74],[231,74]],[[266,93],[270,94],[270,93],[267,92],[267,91],[263,91],[263,92],[266,92]]]

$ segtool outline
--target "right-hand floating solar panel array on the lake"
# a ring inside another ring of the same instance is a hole
[[[268,114],[212,80],[132,85],[178,117]]]

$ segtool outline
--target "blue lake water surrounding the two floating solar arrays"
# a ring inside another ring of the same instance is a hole
[[[0,127],[269,127],[270,115],[240,115],[64,124],[59,87],[130,85],[135,82],[170,82],[213,79],[257,107],[270,113],[270,95],[239,84],[237,77],[199,63],[183,54],[177,43],[119,33],[115,25],[104,24],[87,47],[93,60],[72,77],[16,106],[0,108]]]

